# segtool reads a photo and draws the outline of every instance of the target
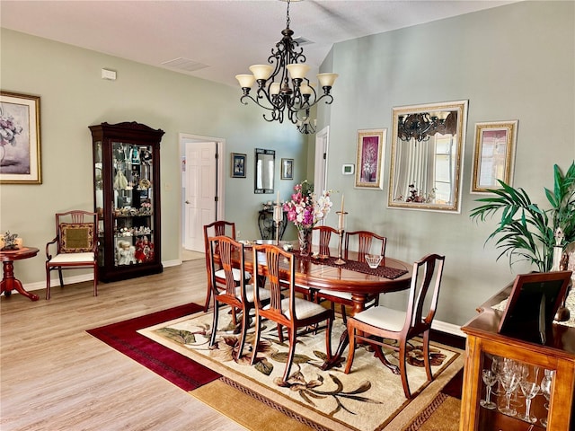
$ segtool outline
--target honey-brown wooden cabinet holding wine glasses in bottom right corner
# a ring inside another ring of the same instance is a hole
[[[479,309],[480,314],[462,328],[467,335],[467,347],[459,429],[571,431],[575,426],[575,328],[554,323],[543,345],[498,333],[501,313],[492,306],[509,297],[510,291],[511,286],[507,286],[493,296]],[[502,367],[494,365],[494,361],[502,362]],[[530,402],[529,415],[526,415],[525,397],[521,390],[517,393],[517,387],[513,395],[509,394],[510,400],[505,387],[499,388],[498,395],[490,393],[491,402],[486,400],[485,370],[499,374],[498,380],[502,383],[503,376],[508,374],[504,371],[506,366],[530,369],[528,380],[540,386]],[[514,404],[514,400],[518,403]]]

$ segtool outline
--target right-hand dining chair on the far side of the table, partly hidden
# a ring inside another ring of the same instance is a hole
[[[334,229],[335,230],[335,229]],[[335,231],[337,232],[337,231]],[[346,232],[345,233],[345,249],[344,249],[344,259],[349,259],[349,239],[358,238],[358,261],[365,262],[366,254],[371,253],[372,243],[375,244],[375,251],[379,251],[382,256],[385,256],[385,243],[387,239],[385,236],[378,235],[377,233],[372,233],[368,231],[356,231],[356,232]],[[329,247],[329,246],[328,246]],[[315,293],[314,298],[316,302],[330,301],[332,303],[332,309],[336,303],[341,306],[341,318],[344,322],[347,322],[347,314],[345,307],[352,307],[353,300],[349,292],[337,292],[334,290],[322,289]],[[377,305],[379,303],[379,295],[368,295],[367,302],[364,307],[370,307]]]

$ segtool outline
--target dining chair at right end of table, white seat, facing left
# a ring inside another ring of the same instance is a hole
[[[385,366],[389,367],[394,374],[401,374],[403,392],[405,397],[410,399],[411,391],[406,370],[407,342],[414,337],[422,336],[425,371],[428,381],[433,380],[429,364],[429,330],[438,308],[444,261],[445,256],[429,254],[413,263],[406,311],[397,311],[378,305],[349,318],[349,354],[345,367],[346,374],[349,374],[351,370],[357,341],[367,342],[374,347],[376,356]],[[395,340],[395,344],[388,344],[389,340]],[[382,347],[399,352],[399,367],[387,361]]]

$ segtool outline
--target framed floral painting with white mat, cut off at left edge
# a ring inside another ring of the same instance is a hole
[[[40,97],[0,92],[0,184],[41,184]]]

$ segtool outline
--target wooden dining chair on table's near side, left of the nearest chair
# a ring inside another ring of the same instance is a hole
[[[232,308],[232,319],[234,326],[237,325],[236,310],[242,312],[242,329],[240,332],[240,343],[236,357],[236,359],[239,359],[243,352],[245,333],[250,326],[250,312],[255,307],[253,286],[246,285],[244,277],[240,277],[239,280],[235,279],[235,270],[239,270],[240,274],[245,272],[245,264],[243,260],[243,244],[241,242],[236,242],[227,236],[209,237],[208,243],[209,261],[211,266],[210,272],[212,274],[212,295],[214,296],[214,321],[212,324],[212,335],[209,340],[209,345],[213,346],[216,342],[217,319],[219,315],[220,304],[229,305]],[[239,268],[234,268],[233,266],[232,255],[234,251],[238,251],[238,257],[240,260]],[[221,269],[216,269],[216,259],[214,259],[216,254],[219,260],[219,267],[221,267]],[[216,274],[218,271],[222,271],[224,275],[223,279],[225,288],[221,291],[217,288],[216,282]],[[270,291],[262,288],[259,292],[258,298],[261,304],[270,303]]]

